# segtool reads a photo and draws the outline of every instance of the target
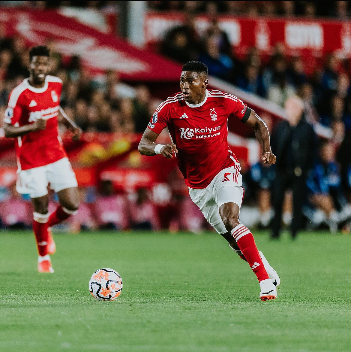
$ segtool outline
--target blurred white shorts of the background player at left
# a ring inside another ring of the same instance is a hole
[[[55,192],[77,187],[76,175],[68,158],[38,168],[17,171],[16,189],[18,193],[29,194],[31,198],[47,194],[47,186]]]

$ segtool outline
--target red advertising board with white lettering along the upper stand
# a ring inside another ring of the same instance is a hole
[[[172,27],[185,23],[184,13],[148,12],[145,17],[144,35],[149,46],[159,42]],[[288,55],[321,56],[337,52],[340,57],[351,57],[351,23],[337,20],[302,20],[277,18],[243,18],[221,15],[219,26],[228,34],[235,50],[246,53],[256,47],[268,54],[276,43],[284,43]],[[199,15],[195,26],[199,36],[208,28],[210,18]]]

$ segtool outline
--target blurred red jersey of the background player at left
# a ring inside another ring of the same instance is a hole
[[[39,118],[47,120],[45,130],[15,139],[20,170],[51,164],[67,156],[58,134],[61,91],[62,81],[54,76],[46,76],[43,88],[32,87],[26,78],[12,90],[4,122],[23,126]]]

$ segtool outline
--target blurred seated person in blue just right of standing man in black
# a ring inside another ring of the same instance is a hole
[[[307,188],[309,202],[314,206],[304,214],[312,227],[325,223],[335,233],[338,227],[351,220],[351,206],[343,194],[339,165],[332,142],[327,141],[319,148],[319,159],[309,172]]]

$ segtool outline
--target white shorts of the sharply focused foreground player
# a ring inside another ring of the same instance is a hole
[[[227,230],[218,209],[224,203],[236,203],[240,209],[244,197],[242,180],[240,166],[235,165],[218,172],[206,188],[189,187],[192,201],[219,234],[226,233]]]

